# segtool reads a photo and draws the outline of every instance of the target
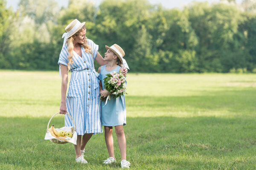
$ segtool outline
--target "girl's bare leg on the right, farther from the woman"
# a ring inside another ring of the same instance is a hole
[[[126,140],[123,125],[115,126],[119,150],[121,153],[121,160],[126,160]]]

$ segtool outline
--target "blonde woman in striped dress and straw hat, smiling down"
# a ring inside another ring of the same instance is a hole
[[[79,20],[73,20],[65,30],[64,44],[58,60],[61,72],[60,114],[70,113],[76,124],[76,162],[86,164],[84,147],[93,134],[102,133],[100,121],[99,74],[94,69],[93,60],[106,65],[98,52],[98,45],[86,39],[86,27]],[[125,69],[125,68],[124,68]],[[72,72],[67,93],[68,70]],[[127,69],[124,71],[127,74]],[[74,126],[65,115],[65,126]],[[81,136],[83,135],[82,139]]]

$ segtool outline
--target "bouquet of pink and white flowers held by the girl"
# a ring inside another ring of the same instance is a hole
[[[115,98],[122,96],[126,93],[126,78],[122,74],[122,71],[119,73],[116,73],[114,71],[113,73],[106,74],[107,77],[105,77],[104,80],[104,87],[105,89]],[[109,96],[101,97],[101,100],[104,102],[106,99],[110,99]]]

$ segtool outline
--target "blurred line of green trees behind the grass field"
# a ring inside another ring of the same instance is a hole
[[[0,0],[0,69],[58,70],[64,28],[86,22],[87,38],[120,45],[130,72],[256,72],[256,3],[193,2],[166,9],[148,0]],[[96,64],[96,68],[99,65]]]

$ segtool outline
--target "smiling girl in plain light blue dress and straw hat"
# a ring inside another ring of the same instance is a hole
[[[119,45],[112,45],[111,47],[105,46],[107,52],[105,53],[104,60],[108,62],[107,65],[99,67],[98,73],[101,74],[99,82],[99,91],[102,97],[107,97],[110,93],[105,89],[103,79],[106,74],[113,71],[123,71],[122,64],[128,68],[123,56],[125,52]],[[118,140],[119,150],[121,153],[121,167],[129,168],[130,162],[126,161],[126,141],[123,125],[126,125],[126,109],[125,109],[125,97],[120,96],[118,98],[111,97],[107,105],[105,102],[101,102],[101,122],[105,129],[105,142],[108,148],[109,158],[103,161],[104,164],[111,164],[116,162],[114,156],[113,136],[112,130],[115,126],[116,136]],[[103,107],[104,106],[104,107]]]

